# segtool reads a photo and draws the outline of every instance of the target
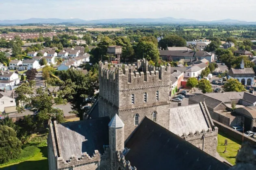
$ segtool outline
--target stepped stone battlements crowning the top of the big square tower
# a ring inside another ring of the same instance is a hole
[[[127,83],[132,85],[161,83],[170,80],[171,66],[155,67],[148,65],[147,60],[138,60],[135,64],[115,64],[110,65],[108,62],[100,62],[99,76],[105,82],[114,83],[119,80],[119,83]],[[121,81],[121,82],[120,82]]]

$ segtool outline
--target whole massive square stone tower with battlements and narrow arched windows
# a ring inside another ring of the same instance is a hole
[[[99,116],[117,114],[126,125],[125,140],[145,115],[169,129],[169,64],[154,67],[144,59],[137,65],[99,65]]]

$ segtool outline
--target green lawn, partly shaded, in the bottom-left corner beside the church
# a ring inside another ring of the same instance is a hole
[[[12,160],[9,164],[0,165],[1,170],[48,170],[47,134],[33,135],[25,147],[36,146],[35,155]]]

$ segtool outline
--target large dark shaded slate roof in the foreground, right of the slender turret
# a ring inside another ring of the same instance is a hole
[[[138,170],[228,170],[222,163],[145,117],[132,134],[125,159]]]

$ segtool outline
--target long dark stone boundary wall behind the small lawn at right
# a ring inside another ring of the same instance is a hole
[[[220,132],[223,132],[225,134],[228,134],[228,136],[231,136],[232,138],[235,138],[239,141],[247,141],[247,142],[252,142],[253,144],[256,144],[256,140],[251,138],[251,137],[247,137],[247,136],[243,136],[243,133],[238,132],[234,129],[232,129],[231,127],[228,127],[222,123],[219,123],[218,121],[213,121],[214,125],[217,126],[219,128]]]

